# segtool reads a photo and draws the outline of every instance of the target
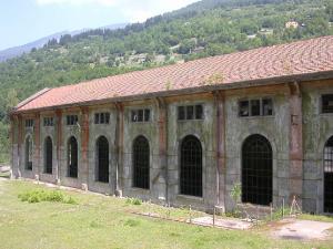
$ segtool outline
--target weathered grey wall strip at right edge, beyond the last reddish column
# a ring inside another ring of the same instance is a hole
[[[303,92],[303,209],[323,212],[324,170],[323,153],[326,141],[333,136],[333,115],[321,113],[321,95],[333,93],[333,81],[311,82]]]

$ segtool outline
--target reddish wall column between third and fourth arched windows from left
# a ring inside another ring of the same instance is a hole
[[[82,120],[81,120],[81,157],[82,157],[82,165],[81,165],[81,183],[82,189],[88,190],[88,183],[89,183],[89,160],[88,160],[88,153],[89,153],[89,108],[82,107]]]

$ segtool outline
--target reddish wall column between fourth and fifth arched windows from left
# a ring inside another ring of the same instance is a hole
[[[115,103],[117,108],[117,128],[115,128],[115,151],[117,151],[117,169],[115,169],[115,196],[122,196],[122,168],[123,168],[123,105]]]

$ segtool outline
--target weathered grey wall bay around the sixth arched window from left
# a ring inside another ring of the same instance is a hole
[[[178,121],[178,106],[202,104],[204,118],[200,121]],[[168,107],[168,187],[171,204],[192,205],[200,209],[212,209],[215,198],[215,105],[211,100],[178,101]],[[180,148],[182,139],[194,135],[202,146],[202,198],[180,195]]]

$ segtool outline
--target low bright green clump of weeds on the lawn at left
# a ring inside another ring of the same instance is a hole
[[[78,204],[77,200],[71,196],[65,196],[62,191],[59,190],[30,190],[22,194],[19,194],[19,199],[21,201],[28,201],[30,204],[50,201],[50,203],[63,203],[63,204]]]

